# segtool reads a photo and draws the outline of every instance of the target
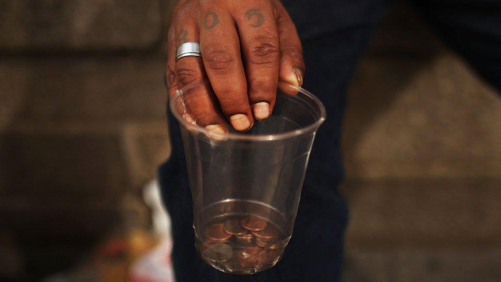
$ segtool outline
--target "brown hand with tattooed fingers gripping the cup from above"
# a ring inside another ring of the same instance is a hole
[[[199,42],[202,58],[176,48]],[[168,30],[169,96],[208,78],[216,97],[197,96],[185,119],[208,130],[251,128],[271,115],[277,81],[301,86],[302,49],[296,28],[279,0],[180,0]]]

